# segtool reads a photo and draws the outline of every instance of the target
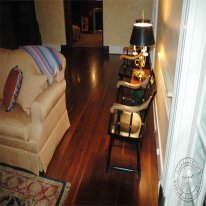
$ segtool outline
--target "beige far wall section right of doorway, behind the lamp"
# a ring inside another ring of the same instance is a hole
[[[110,51],[122,52],[128,46],[132,27],[136,19],[141,18],[142,10],[145,18],[152,20],[152,0],[104,0],[103,1],[103,45]],[[113,53],[110,52],[110,53]]]

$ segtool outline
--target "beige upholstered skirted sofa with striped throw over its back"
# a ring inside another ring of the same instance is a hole
[[[0,109],[0,162],[30,170],[47,170],[57,145],[70,126],[65,100],[66,61],[55,82],[48,84],[33,58],[24,50],[0,49],[0,99],[9,74],[23,72],[17,103],[11,112]]]

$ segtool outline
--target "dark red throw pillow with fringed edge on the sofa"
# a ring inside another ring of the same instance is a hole
[[[16,103],[21,83],[22,83],[22,72],[15,66],[9,72],[3,91],[3,103],[6,111],[11,111]]]

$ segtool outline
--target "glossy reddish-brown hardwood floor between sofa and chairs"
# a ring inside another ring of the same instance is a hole
[[[107,124],[117,94],[119,55],[103,55],[97,48],[73,48],[64,54],[68,60],[65,75],[71,127],[46,175],[71,183],[66,205],[158,205],[152,111],[142,144],[141,181],[133,173],[115,170],[105,173]],[[135,166],[135,148],[115,145],[112,162]]]

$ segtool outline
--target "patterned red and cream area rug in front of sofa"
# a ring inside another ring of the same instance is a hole
[[[0,164],[0,205],[64,205],[70,183]]]

